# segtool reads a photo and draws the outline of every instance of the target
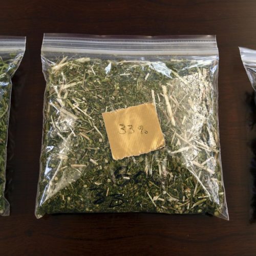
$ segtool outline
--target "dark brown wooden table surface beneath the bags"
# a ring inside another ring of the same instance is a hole
[[[238,46],[256,49],[253,0],[0,1],[0,34],[26,35],[13,79],[7,197],[0,218],[0,255],[255,255],[246,92],[250,82]],[[45,80],[44,32],[86,34],[216,34],[220,50],[222,163],[230,221],[205,215],[91,214],[34,216]]]

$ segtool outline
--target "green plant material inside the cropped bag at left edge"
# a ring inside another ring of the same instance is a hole
[[[0,56],[0,215],[6,215],[9,203],[5,199],[5,169],[7,157],[7,137],[11,98],[11,76],[17,68],[21,57],[13,59],[10,54],[8,58]]]

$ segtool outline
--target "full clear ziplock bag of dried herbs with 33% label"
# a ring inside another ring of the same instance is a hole
[[[228,220],[215,36],[46,34],[36,210]]]

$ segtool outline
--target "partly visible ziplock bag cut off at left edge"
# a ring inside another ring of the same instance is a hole
[[[11,77],[19,66],[25,52],[26,38],[0,36],[0,215],[10,214],[5,198],[7,138],[10,113]]]

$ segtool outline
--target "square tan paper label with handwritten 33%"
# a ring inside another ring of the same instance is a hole
[[[102,116],[115,160],[139,156],[165,145],[153,103],[105,112]]]

